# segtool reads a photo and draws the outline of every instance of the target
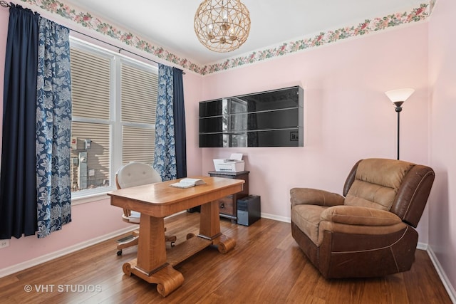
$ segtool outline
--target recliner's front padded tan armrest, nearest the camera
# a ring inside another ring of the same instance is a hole
[[[393,212],[363,206],[332,206],[321,212],[321,219],[361,226],[391,226],[402,222]]]

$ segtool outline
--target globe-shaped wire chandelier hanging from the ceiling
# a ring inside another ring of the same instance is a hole
[[[195,33],[209,50],[236,50],[247,40],[250,16],[239,0],[204,0],[195,14]]]

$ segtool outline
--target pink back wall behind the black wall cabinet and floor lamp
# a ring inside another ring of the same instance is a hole
[[[400,155],[427,164],[427,23],[207,75],[202,99],[290,85],[304,88],[304,147],[203,149],[203,172],[214,169],[213,158],[245,154],[262,213],[287,219],[292,187],[341,193],[358,159],[395,158],[397,116],[386,90],[415,88],[401,112]],[[427,214],[419,232],[427,243]]]

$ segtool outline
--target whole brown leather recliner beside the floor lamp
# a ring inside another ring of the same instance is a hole
[[[415,260],[418,225],[434,182],[430,167],[361,159],[343,196],[309,188],[291,195],[291,234],[325,278],[386,276]]]

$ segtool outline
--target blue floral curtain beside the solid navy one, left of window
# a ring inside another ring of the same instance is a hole
[[[71,75],[68,28],[40,17],[36,99],[38,238],[71,221]]]

